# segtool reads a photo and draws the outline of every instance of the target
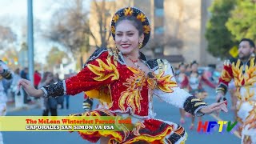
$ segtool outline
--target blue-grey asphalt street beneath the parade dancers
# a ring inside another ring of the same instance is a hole
[[[212,103],[215,101],[215,94],[214,90],[209,90],[210,94],[208,98],[206,98],[207,103]],[[228,99],[228,107],[229,112],[227,114],[221,113],[219,118],[213,117],[213,115],[205,115],[202,117],[202,121],[232,121],[234,122],[234,111],[230,110],[230,95],[227,95]],[[58,115],[68,115],[74,113],[81,113],[82,110],[82,102],[83,102],[83,95],[78,94],[74,97],[70,98],[70,109],[66,110],[58,110]],[[96,104],[94,103],[94,106]],[[178,108],[174,106],[170,106],[166,102],[161,102],[158,98],[154,98],[154,111],[157,113],[156,118],[176,122],[179,123],[180,114],[178,112]],[[13,112],[9,112],[7,115],[22,115],[22,116],[38,116],[42,114],[41,109],[32,109],[32,110],[16,110]],[[198,118],[196,118],[197,121]],[[207,143],[207,144],[238,144],[241,143],[241,139],[238,138],[238,134],[230,134],[227,132],[218,133],[218,130],[215,130],[211,134],[206,133],[198,133],[198,122],[195,123],[194,130],[189,130],[191,118],[186,118],[186,123],[183,125],[188,133],[188,138],[186,143]],[[14,123],[15,125],[15,123]],[[226,131],[226,128],[223,128],[223,131]],[[46,144],[46,143],[62,143],[62,144],[85,144],[90,143],[84,141],[77,132],[69,133],[69,132],[3,132],[3,139],[5,144],[14,144],[14,143],[26,143],[26,144]],[[99,143],[99,142],[98,142]]]

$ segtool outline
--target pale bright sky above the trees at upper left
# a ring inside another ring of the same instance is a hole
[[[38,62],[45,62],[46,55],[54,46],[47,42],[40,34],[39,29],[46,30],[55,10],[61,7],[61,0],[34,0],[34,54]],[[26,41],[27,0],[0,0],[0,25],[10,26],[18,34],[18,49],[21,42]],[[40,27],[40,28],[39,28]]]

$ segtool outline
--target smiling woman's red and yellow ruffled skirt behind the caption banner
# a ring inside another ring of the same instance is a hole
[[[109,110],[94,110],[83,114],[73,114],[76,116],[116,116]],[[101,137],[110,138],[109,143],[134,143],[134,142],[147,142],[147,143],[185,143],[186,131],[182,126],[173,122],[165,122],[158,119],[143,119],[142,121],[135,122],[132,130],[123,131],[78,131],[78,134],[83,139],[90,142],[98,142]]]

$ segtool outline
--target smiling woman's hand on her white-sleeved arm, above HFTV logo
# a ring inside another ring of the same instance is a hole
[[[215,102],[215,103],[211,104],[210,106],[203,107],[202,109],[200,109],[200,111],[204,114],[210,114],[210,113],[213,113],[214,111],[218,112],[219,110],[228,112],[225,102],[226,101]]]

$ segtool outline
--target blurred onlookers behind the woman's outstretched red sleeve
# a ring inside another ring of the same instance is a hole
[[[72,74],[65,74],[64,78],[69,78]],[[10,80],[3,80],[4,91],[8,98],[8,103],[14,104],[16,107],[22,107],[24,105],[38,104],[42,108],[42,115],[46,116],[49,113],[52,116],[58,115],[59,109],[69,109],[69,95],[58,98],[31,98],[26,92],[21,89],[18,90],[17,83],[21,79],[29,80],[28,68],[20,70],[19,68],[14,70],[13,78]],[[58,82],[61,79],[58,74],[53,74],[50,71],[46,71],[40,74],[38,70],[34,71],[34,87],[40,89],[42,86],[47,86],[51,83]],[[65,102],[65,104],[64,104]]]

